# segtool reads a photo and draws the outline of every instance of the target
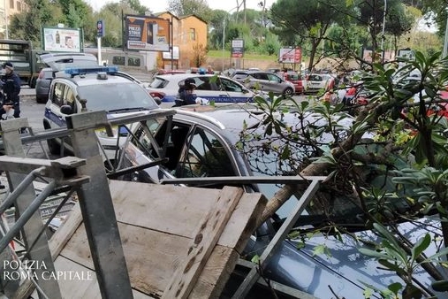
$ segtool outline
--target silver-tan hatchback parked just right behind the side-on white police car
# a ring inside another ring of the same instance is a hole
[[[262,92],[273,92],[277,95],[292,96],[295,88],[292,82],[278,77],[275,73],[265,71],[239,71],[233,79],[243,83],[247,88]]]

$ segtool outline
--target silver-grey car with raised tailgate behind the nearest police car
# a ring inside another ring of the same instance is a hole
[[[49,99],[49,85],[53,74],[67,67],[96,67],[98,60],[88,53],[48,53],[40,56],[41,63],[46,67],[41,69],[36,80],[35,93],[37,103],[46,103]]]

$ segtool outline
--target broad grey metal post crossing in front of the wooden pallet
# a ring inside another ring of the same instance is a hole
[[[72,130],[75,156],[87,160],[86,165],[78,168],[78,173],[88,175],[90,181],[77,193],[102,298],[132,299],[109,182],[95,136],[95,124],[107,122],[105,111],[77,113],[67,118],[67,128]]]

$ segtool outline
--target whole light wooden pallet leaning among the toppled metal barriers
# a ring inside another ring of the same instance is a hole
[[[233,187],[110,180],[110,194],[134,298],[218,297],[266,204]],[[58,272],[84,279],[59,280],[63,297],[101,298],[79,208],[67,219],[50,249]]]

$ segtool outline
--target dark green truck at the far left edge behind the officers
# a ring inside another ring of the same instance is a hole
[[[35,80],[43,66],[39,63],[39,56],[43,53],[48,52],[33,50],[30,41],[0,40],[0,65],[11,61],[14,71],[22,80],[22,85],[31,88],[35,87]]]

